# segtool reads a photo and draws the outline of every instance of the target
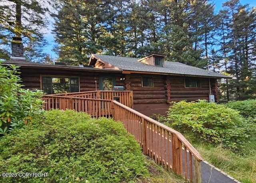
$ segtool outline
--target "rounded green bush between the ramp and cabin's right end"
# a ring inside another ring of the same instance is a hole
[[[182,133],[192,131],[196,138],[230,148],[248,142],[251,132],[250,123],[238,111],[206,100],[174,102],[167,120]]]

